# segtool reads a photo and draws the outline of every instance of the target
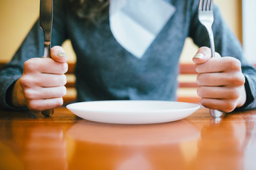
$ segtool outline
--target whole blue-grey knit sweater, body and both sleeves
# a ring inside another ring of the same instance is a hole
[[[95,100],[176,100],[179,58],[187,37],[201,46],[210,46],[206,29],[198,21],[198,0],[166,0],[176,11],[144,56],[131,55],[114,39],[108,19],[99,26],[87,25],[61,0],[54,1],[52,46],[70,39],[77,55],[75,68],[78,101]],[[250,92],[243,109],[255,108],[256,71],[243,57],[240,42],[230,31],[215,6],[215,50],[242,63]],[[193,57],[194,54],[191,54]],[[10,86],[21,77],[23,62],[43,56],[43,32],[35,23],[13,59],[0,73],[0,107],[9,105]]]

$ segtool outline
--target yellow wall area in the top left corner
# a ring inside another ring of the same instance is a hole
[[[9,61],[39,15],[39,0],[0,1],[1,61]]]

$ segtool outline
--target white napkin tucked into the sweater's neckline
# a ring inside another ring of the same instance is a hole
[[[175,10],[164,0],[111,0],[110,29],[124,49],[141,58]]]

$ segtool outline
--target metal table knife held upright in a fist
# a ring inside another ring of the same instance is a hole
[[[50,58],[50,36],[53,25],[53,0],[40,1],[40,28],[43,30],[43,58]],[[54,109],[42,111],[45,116],[53,115]]]

